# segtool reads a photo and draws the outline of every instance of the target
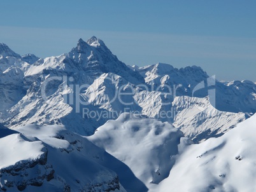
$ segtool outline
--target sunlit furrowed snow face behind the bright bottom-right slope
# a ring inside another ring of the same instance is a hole
[[[219,137],[246,119],[244,113],[218,111],[211,106],[209,97],[175,97],[173,107],[174,127],[194,142]]]

